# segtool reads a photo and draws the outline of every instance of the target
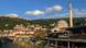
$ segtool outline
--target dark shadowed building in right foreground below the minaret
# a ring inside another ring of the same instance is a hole
[[[57,31],[50,34],[45,40],[47,40],[47,47],[53,45],[53,48],[68,48],[68,46],[69,48],[86,48],[86,25]]]

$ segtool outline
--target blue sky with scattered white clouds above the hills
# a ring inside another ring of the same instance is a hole
[[[71,0],[74,17],[86,16],[86,0]],[[67,17],[67,0],[0,0],[0,15],[28,20]]]

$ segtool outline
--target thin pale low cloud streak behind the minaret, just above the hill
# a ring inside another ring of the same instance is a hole
[[[47,16],[49,19],[61,19],[61,17],[68,17],[69,13],[68,11],[65,11],[64,13],[56,13],[53,15]],[[73,17],[86,17],[86,9],[73,9]]]

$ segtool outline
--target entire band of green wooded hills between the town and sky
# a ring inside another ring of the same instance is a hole
[[[24,26],[28,26],[28,24],[40,24],[42,26],[50,27],[50,24],[57,23],[60,20],[65,20],[67,23],[69,23],[69,19],[46,19],[46,20],[24,20],[19,17],[7,17],[7,16],[0,16],[0,29],[12,29],[15,25],[23,24]],[[80,25],[80,23],[86,23],[86,17],[74,17],[74,25]]]

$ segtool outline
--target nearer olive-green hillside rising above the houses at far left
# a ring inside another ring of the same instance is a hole
[[[28,23],[31,23],[31,21],[19,17],[0,16],[0,29],[12,29],[15,25],[20,24],[26,26]]]

